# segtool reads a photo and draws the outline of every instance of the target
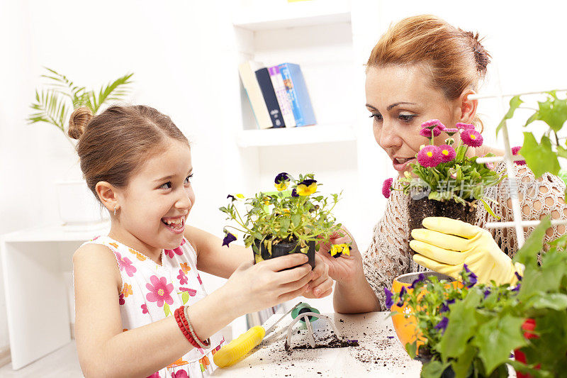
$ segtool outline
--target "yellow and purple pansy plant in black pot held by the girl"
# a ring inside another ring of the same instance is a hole
[[[220,211],[236,225],[225,226],[223,245],[237,239],[235,233],[229,231],[235,230],[244,234],[247,247],[252,246],[254,262],[289,253],[305,253],[309,264],[315,267],[318,244],[329,242],[330,235],[341,227],[332,215],[339,194],[330,197],[318,194],[322,184],[313,174],[300,174],[294,179],[282,172],[274,182],[277,191],[259,192],[250,199],[242,194],[228,195],[230,202]],[[331,253],[335,257],[349,254],[348,245],[339,245]]]

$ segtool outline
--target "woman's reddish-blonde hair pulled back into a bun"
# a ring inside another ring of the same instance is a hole
[[[432,86],[451,101],[467,88],[477,90],[490,54],[478,33],[431,15],[412,16],[391,26],[370,54],[367,67],[423,64]]]

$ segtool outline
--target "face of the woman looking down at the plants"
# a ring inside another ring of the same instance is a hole
[[[420,126],[438,119],[448,128],[460,121],[459,100],[448,101],[433,89],[422,65],[369,67],[366,72],[366,108],[373,118],[374,138],[392,160],[400,175],[410,171],[410,162],[420,145],[429,140],[420,135]],[[447,133],[434,138],[444,144]]]

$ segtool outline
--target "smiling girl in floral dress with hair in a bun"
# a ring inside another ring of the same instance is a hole
[[[148,106],[77,109],[81,169],[111,213],[111,230],[73,256],[76,338],[86,377],[204,377],[218,331],[245,313],[299,295],[327,296],[332,280],[301,253],[252,265],[186,224],[195,201],[191,149],[172,120]],[[291,268],[289,270],[282,270]],[[210,295],[197,269],[228,278]]]

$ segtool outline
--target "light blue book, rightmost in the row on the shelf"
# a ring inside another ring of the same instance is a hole
[[[311,106],[301,68],[293,63],[283,63],[279,65],[279,70],[291,99],[291,109],[293,117],[296,118],[296,126],[315,125],[317,120],[315,120],[315,113],[313,113],[313,106]]]

